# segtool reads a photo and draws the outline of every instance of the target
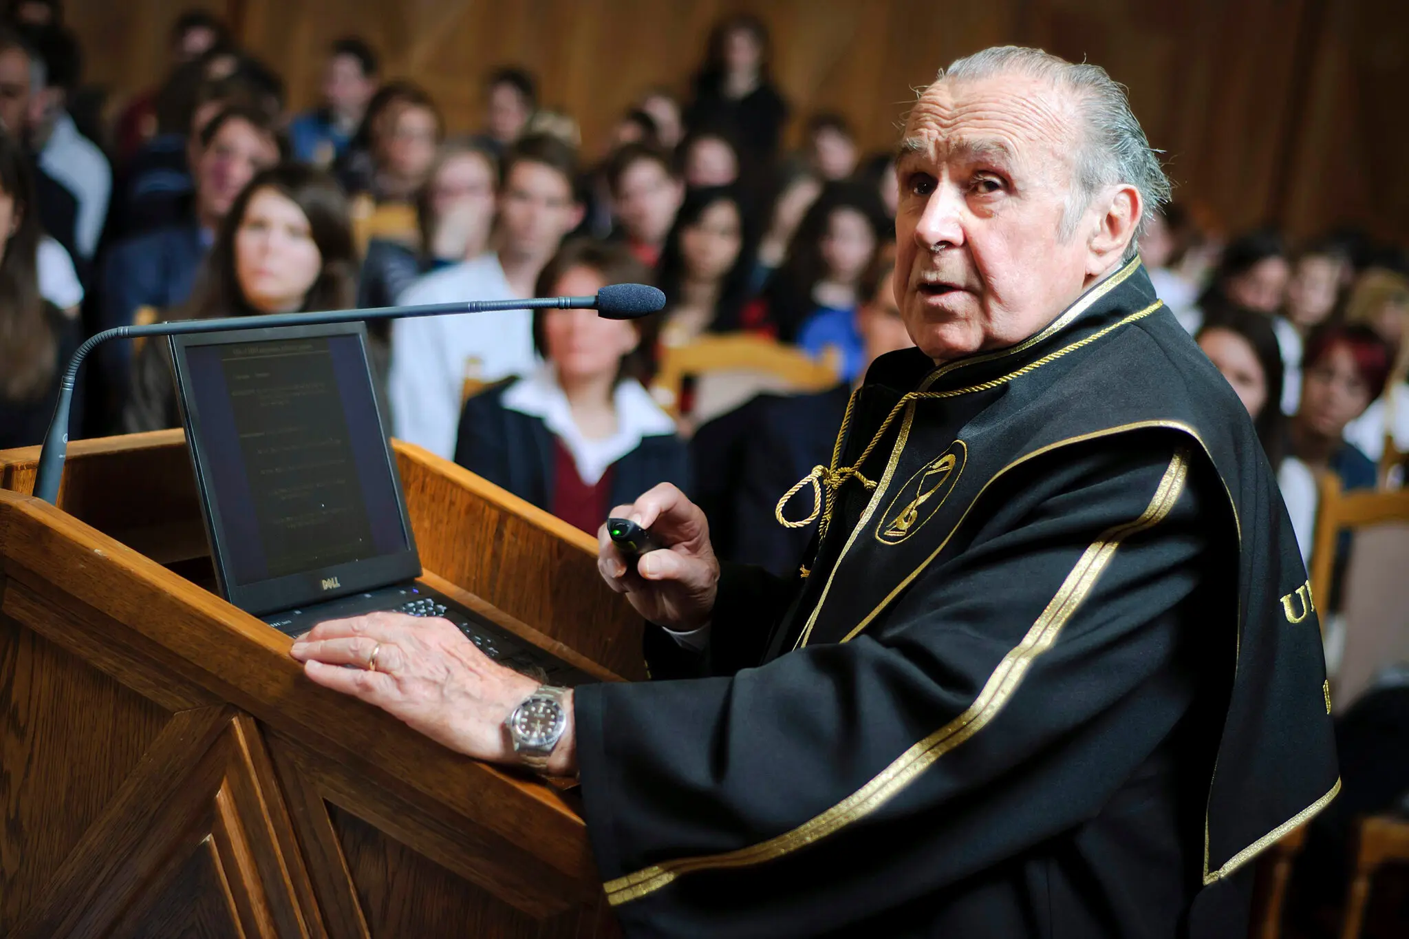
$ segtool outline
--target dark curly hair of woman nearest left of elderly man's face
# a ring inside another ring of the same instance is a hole
[[[764,296],[768,300],[768,317],[778,327],[778,338],[790,341],[797,327],[813,310],[816,302],[812,290],[827,276],[827,264],[821,258],[821,240],[831,224],[831,216],[840,209],[851,209],[871,226],[876,250],[890,230],[881,193],[874,186],[858,182],[827,183],[807,214],[797,224],[783,262],[768,282]]]

